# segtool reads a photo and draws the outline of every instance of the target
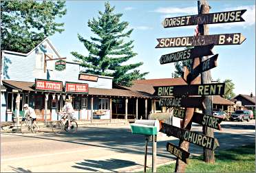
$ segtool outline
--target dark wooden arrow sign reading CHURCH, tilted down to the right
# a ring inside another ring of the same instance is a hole
[[[195,145],[202,146],[203,148],[208,148],[210,150],[215,150],[215,148],[220,146],[217,139],[213,137],[201,135],[198,132],[192,132],[186,129],[172,126],[170,124],[161,124],[162,128],[160,129],[160,132],[167,134],[167,136],[177,137],[184,141],[189,141]]]

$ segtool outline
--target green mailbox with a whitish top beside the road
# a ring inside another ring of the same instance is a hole
[[[160,130],[158,120],[136,120],[134,124],[131,124],[131,132],[133,134],[141,135],[157,135]]]

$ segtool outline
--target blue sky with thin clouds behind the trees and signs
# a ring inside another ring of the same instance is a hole
[[[65,23],[65,31],[55,34],[50,39],[61,56],[73,60],[70,51],[88,55],[77,34],[84,38],[93,36],[87,21],[98,17],[98,11],[104,11],[105,1],[66,1],[67,14],[58,21]],[[193,36],[195,25],[186,27],[162,27],[166,17],[197,14],[197,1],[110,1],[116,13],[122,13],[121,21],[128,21],[129,28],[134,28],[131,39],[134,51],[138,54],[128,63],[144,62],[140,71],[149,71],[146,79],[171,78],[174,65],[160,65],[163,54],[180,51],[184,47],[155,49],[156,38]],[[217,67],[211,69],[213,80],[231,79],[235,84],[235,94],[255,95],[255,1],[209,1],[210,12],[230,10],[247,11],[243,14],[245,22],[221,23],[209,25],[209,34],[242,33],[246,41],[242,45],[219,45],[213,48],[219,54]]]

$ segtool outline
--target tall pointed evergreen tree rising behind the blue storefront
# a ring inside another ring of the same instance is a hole
[[[143,62],[131,65],[122,65],[137,54],[132,51],[134,41],[125,41],[133,30],[128,30],[126,21],[120,21],[122,14],[114,14],[114,7],[109,2],[105,3],[105,11],[98,12],[98,19],[93,18],[88,21],[88,26],[96,37],[90,37],[91,41],[78,34],[78,39],[89,51],[88,56],[72,51],[77,62],[81,62],[85,67],[85,73],[92,73],[102,76],[114,77],[114,84],[130,86],[132,80],[144,79],[147,73],[140,73],[136,68]],[[134,71],[131,71],[135,69]]]

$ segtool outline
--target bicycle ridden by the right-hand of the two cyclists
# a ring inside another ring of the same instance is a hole
[[[70,120],[70,130],[67,130],[68,128],[68,120],[67,120],[67,113],[58,113],[58,116],[61,117],[60,120],[52,122],[52,132],[54,132],[55,134],[58,134],[62,131],[66,131],[66,132],[76,132],[78,125],[74,119],[74,117],[72,117],[72,119]],[[63,122],[63,120],[65,122]]]

